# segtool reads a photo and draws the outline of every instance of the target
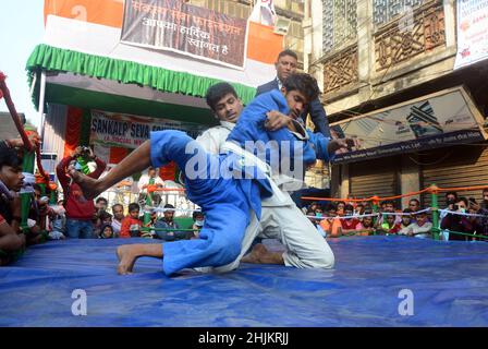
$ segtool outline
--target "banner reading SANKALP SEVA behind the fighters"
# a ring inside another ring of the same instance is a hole
[[[149,140],[152,131],[180,130],[196,137],[207,128],[190,122],[93,110],[89,141],[90,144],[101,143],[105,146],[136,148]]]

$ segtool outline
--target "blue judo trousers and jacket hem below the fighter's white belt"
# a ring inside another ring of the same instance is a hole
[[[188,152],[190,149],[190,152]],[[174,160],[185,173],[188,198],[206,214],[197,240],[163,244],[162,267],[167,275],[183,268],[221,266],[233,262],[241,252],[242,239],[249,222],[249,209],[260,215],[261,196],[271,195],[266,176],[255,167],[245,168],[234,154],[208,154],[181,131],[150,134],[150,158],[155,167]],[[212,173],[212,169],[241,172],[243,179]],[[246,174],[242,173],[245,171]],[[261,178],[261,179],[252,179]]]

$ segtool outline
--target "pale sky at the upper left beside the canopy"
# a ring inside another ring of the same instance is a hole
[[[30,100],[25,63],[44,35],[44,0],[1,0],[0,7],[0,71],[17,112],[25,112],[36,127],[40,117]],[[0,99],[0,111],[8,111]]]

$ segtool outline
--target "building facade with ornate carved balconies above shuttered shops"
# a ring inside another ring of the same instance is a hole
[[[488,185],[488,97],[484,93],[488,61],[454,69],[460,55],[456,17],[464,15],[456,8],[454,0],[306,3],[304,65],[322,87],[329,123],[338,132],[355,130],[364,144],[375,144],[376,149],[398,145],[396,151],[380,156],[376,151],[364,152],[362,157],[332,165],[332,195],[391,196],[431,183],[441,188]],[[462,94],[463,101],[455,105],[451,93]],[[454,106],[469,117],[461,120],[462,116],[450,110]],[[406,127],[394,119],[402,108],[407,110]],[[452,118],[439,121],[448,117]],[[476,137],[441,140],[449,128],[462,129],[466,120],[471,123],[465,131],[472,128]],[[395,131],[382,128],[388,121],[394,121]],[[351,132],[345,135],[356,135]],[[400,142],[405,139],[402,133],[415,134],[418,142]],[[429,134],[437,134],[437,140],[425,137]],[[424,140],[442,144],[423,144]],[[460,194],[480,198],[480,191]],[[430,196],[420,196],[428,205]],[[407,200],[401,204],[405,206]]]

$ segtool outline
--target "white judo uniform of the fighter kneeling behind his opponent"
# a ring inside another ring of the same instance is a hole
[[[233,152],[245,156],[251,161],[267,166],[253,154],[240,148],[234,143],[227,142],[234,123],[221,121],[221,124],[205,131],[196,141],[212,154]],[[267,166],[268,172],[271,171]],[[224,266],[202,268],[202,272],[223,273],[239,267],[241,258],[251,248],[256,238],[279,240],[285,248],[283,261],[286,266],[297,268],[332,268],[334,255],[327,241],[317,229],[296,207],[290,193],[280,186],[289,183],[291,179],[271,171],[269,181],[272,196],[261,200],[261,218],[258,220],[251,212],[251,222],[246,228],[239,257]]]

